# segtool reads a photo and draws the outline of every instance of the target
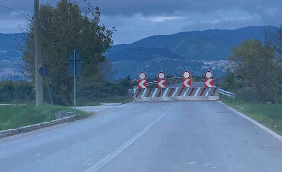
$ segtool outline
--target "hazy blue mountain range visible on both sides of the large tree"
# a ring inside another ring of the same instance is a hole
[[[194,76],[202,75],[207,69],[221,75],[227,67],[234,65],[226,61],[232,46],[252,38],[263,42],[264,28],[277,29],[274,26],[252,26],[150,36],[131,44],[114,45],[105,56],[111,60],[116,79],[127,75],[136,78],[142,68],[147,76],[155,77],[161,67],[173,75],[180,75],[186,67]],[[16,50],[16,40],[23,37],[24,34],[0,33],[0,78],[22,77],[19,69],[21,53]]]

